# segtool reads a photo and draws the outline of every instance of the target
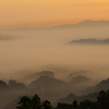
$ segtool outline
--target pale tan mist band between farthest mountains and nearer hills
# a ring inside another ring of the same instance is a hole
[[[109,64],[108,45],[66,45],[72,40],[83,38],[109,38],[109,26],[85,27],[86,22],[90,21],[84,21],[83,27],[72,28],[70,26],[69,29],[57,26],[49,29],[19,28],[1,31],[1,75],[13,78],[16,74],[25,76],[41,70],[55,71],[55,68],[64,68],[69,72],[63,72],[63,74],[55,72],[58,78],[63,78],[70,72],[80,70],[96,71],[96,75],[106,70],[106,75],[100,73],[106,77]]]

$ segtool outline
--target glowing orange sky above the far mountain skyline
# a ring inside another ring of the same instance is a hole
[[[109,0],[2,0],[0,28],[50,27],[109,20]]]

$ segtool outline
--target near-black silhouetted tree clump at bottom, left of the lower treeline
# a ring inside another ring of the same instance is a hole
[[[16,109],[52,109],[50,101],[41,101],[36,94],[33,97],[23,96],[21,97]]]

